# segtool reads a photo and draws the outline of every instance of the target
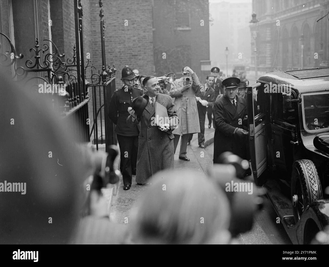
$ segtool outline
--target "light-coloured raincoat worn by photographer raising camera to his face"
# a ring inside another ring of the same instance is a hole
[[[192,81],[190,88],[183,92],[179,89],[183,87],[183,77],[171,84],[169,95],[175,98],[174,104],[179,119],[179,124],[173,134],[200,133],[199,115],[195,100],[195,92],[200,87],[200,82],[195,73],[192,73]]]

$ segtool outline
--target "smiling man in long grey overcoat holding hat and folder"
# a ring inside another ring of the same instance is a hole
[[[142,185],[156,172],[174,167],[174,134],[172,131],[178,126],[179,120],[175,112],[172,98],[160,93],[158,79],[147,76],[143,80],[146,93],[142,96],[147,105],[141,116],[137,117],[135,110],[129,107],[127,118],[129,127],[136,127],[140,122],[139,149],[137,156],[136,182]],[[155,103],[167,109],[168,117],[159,118],[164,125],[155,124]]]

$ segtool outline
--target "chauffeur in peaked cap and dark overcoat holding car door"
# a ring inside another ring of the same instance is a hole
[[[246,158],[248,132],[243,130],[242,123],[247,115],[247,105],[243,97],[237,96],[239,83],[240,79],[235,77],[225,79],[222,82],[225,94],[214,104],[214,163],[220,163],[219,155],[226,151]]]

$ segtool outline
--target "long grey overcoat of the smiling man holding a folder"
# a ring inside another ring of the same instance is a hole
[[[165,94],[158,94],[155,102],[166,107],[170,129],[164,132],[159,129],[159,126],[152,126],[155,105],[152,107],[147,94],[144,94],[143,97],[147,100],[147,105],[140,118],[137,118],[134,122],[131,115],[127,118],[127,124],[132,128],[140,122],[136,170],[137,183],[145,183],[148,178],[158,171],[174,167],[174,135],[172,131],[179,123],[172,98]]]

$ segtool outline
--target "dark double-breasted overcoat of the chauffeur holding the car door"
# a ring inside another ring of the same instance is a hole
[[[233,134],[235,129],[243,129],[243,118],[247,115],[247,104],[243,97],[236,96],[237,108],[229,98],[224,95],[215,101],[213,115],[216,125],[214,135],[214,163],[220,163],[218,157],[221,153],[230,151],[246,159],[247,136]],[[240,119],[240,120],[239,120]]]

